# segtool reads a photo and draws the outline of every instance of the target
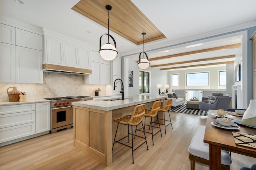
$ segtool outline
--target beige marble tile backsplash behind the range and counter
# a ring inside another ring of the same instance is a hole
[[[64,96],[94,96],[94,88],[100,88],[99,96],[106,95],[106,85],[85,85],[83,75],[62,74],[55,72],[43,73],[43,84],[31,83],[0,83],[0,102],[9,102],[7,89],[17,87],[26,92],[27,100]],[[9,89],[11,91],[12,89]]]

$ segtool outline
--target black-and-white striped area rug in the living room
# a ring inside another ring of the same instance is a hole
[[[208,111],[201,110],[201,109],[187,109],[187,105],[180,105],[177,107],[172,107],[171,111],[177,112],[177,113],[186,113],[186,114],[193,114],[193,115],[202,115],[202,116],[207,116]]]

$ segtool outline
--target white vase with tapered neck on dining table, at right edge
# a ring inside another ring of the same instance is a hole
[[[244,112],[242,123],[256,127],[256,100],[251,100],[248,108]]]

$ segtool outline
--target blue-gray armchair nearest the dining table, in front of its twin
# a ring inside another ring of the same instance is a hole
[[[224,109],[227,110],[229,108],[231,101],[231,97],[228,96],[216,96],[213,104],[208,104],[204,102],[199,102],[199,109],[208,111],[211,110],[217,110],[217,109]]]

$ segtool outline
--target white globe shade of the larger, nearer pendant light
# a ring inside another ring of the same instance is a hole
[[[102,45],[100,50],[100,56],[102,57],[102,59],[108,60],[108,61],[114,60],[114,58],[116,58],[116,55],[117,55],[117,51],[114,45],[110,43],[106,43]]]

